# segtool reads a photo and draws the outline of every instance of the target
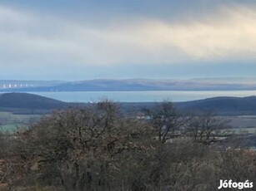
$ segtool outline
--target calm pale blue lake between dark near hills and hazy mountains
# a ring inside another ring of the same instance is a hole
[[[95,102],[108,98],[119,102],[186,101],[216,96],[256,96],[256,91],[54,91],[31,92],[68,102]]]

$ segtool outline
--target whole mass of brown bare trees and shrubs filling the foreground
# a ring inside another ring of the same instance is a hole
[[[218,144],[226,121],[178,114],[170,102],[145,113],[123,116],[102,101],[1,133],[0,190],[211,191],[219,179],[255,182],[256,153]]]

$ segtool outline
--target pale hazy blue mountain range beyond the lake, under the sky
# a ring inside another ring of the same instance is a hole
[[[0,81],[2,92],[40,91],[254,91],[256,78],[191,80]]]

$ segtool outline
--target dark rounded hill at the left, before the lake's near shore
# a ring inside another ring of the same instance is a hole
[[[28,93],[0,94],[0,110],[53,110],[67,107],[68,103]]]

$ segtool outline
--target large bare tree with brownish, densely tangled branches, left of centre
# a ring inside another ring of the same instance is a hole
[[[128,159],[133,161],[131,167],[137,165],[147,159],[157,142],[150,125],[123,118],[118,105],[108,100],[56,111],[33,125],[21,140],[30,145],[23,144],[19,154],[30,161],[37,159],[42,183],[54,182],[66,190],[79,191],[111,190],[113,184],[119,184],[112,177],[123,174],[122,166]]]

